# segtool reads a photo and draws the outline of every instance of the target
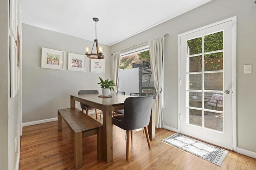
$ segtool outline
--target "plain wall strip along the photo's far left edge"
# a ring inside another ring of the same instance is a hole
[[[0,1],[0,167],[8,169],[8,0]]]

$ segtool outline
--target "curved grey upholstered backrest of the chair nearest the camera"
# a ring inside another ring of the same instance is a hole
[[[130,97],[124,101],[124,119],[120,122],[125,130],[146,127],[150,121],[153,96]],[[120,126],[119,126],[120,127]]]

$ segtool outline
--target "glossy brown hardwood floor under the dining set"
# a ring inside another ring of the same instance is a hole
[[[95,115],[94,115],[95,117]],[[99,119],[99,118],[98,118]],[[63,170],[74,167],[73,134],[62,121],[63,130],[57,130],[57,121],[23,127],[20,151],[20,170]],[[82,169],[109,170],[233,170],[256,169],[256,160],[230,151],[221,166],[212,164],[188,152],[162,142],[174,134],[156,129],[156,139],[148,149],[145,134],[134,131],[130,145],[130,159],[126,160],[125,131],[114,126],[114,160],[106,164],[97,160],[96,135],[83,139]]]

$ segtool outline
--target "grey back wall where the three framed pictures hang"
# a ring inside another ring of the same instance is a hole
[[[105,73],[90,72],[86,57],[86,72],[68,69],[68,52],[84,55],[88,41],[70,35],[22,24],[22,121],[23,123],[57,117],[57,110],[70,107],[70,94],[95,89],[101,93],[99,76],[110,78],[110,47],[103,45]],[[41,68],[42,47],[65,52],[64,70]]]

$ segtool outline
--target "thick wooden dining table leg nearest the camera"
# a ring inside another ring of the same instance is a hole
[[[103,159],[108,163],[113,160],[112,105],[103,106]]]

